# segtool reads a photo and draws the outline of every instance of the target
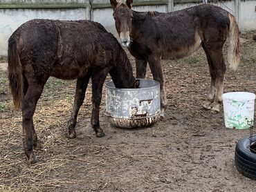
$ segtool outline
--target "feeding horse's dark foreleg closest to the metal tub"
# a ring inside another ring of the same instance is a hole
[[[100,128],[99,112],[100,112],[100,102],[102,97],[102,86],[104,80],[106,79],[108,71],[106,69],[100,72],[93,73],[92,79],[92,90],[93,90],[93,109],[91,112],[91,126],[94,129],[97,137],[103,137],[104,131]]]

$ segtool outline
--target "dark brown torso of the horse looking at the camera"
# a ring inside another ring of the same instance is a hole
[[[132,42],[133,55],[156,53],[163,59],[179,59],[198,50],[202,41],[226,41],[228,37],[228,12],[210,4],[175,12],[144,14],[143,22],[140,20],[141,24],[137,26],[140,33],[134,32],[141,37]]]

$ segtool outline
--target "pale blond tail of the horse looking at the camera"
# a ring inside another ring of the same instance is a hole
[[[231,14],[228,14],[228,17],[230,19],[228,63],[230,68],[236,70],[240,62],[239,28],[235,17]]]

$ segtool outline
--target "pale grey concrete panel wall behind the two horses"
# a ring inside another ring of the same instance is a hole
[[[190,0],[178,1],[188,2]],[[177,0],[174,0],[174,10],[181,10],[196,4],[198,3],[177,3]],[[219,1],[219,3],[213,4],[221,6],[235,15],[235,1]],[[256,0],[241,1],[240,30],[256,30],[255,6]],[[167,0],[135,0],[133,9],[137,11],[156,10],[167,12],[168,3]],[[0,55],[7,55],[8,38],[12,32],[22,23],[35,18],[91,19],[102,23],[109,32],[118,37],[112,13],[113,10],[109,5],[109,0],[93,0],[91,3],[89,3],[89,0],[0,0]]]

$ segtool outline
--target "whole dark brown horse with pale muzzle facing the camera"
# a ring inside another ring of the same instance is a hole
[[[180,59],[200,46],[210,68],[210,93],[203,107],[219,112],[226,65],[223,45],[229,38],[228,62],[239,64],[239,29],[235,17],[226,10],[203,4],[175,12],[136,12],[132,0],[110,0],[116,30],[122,46],[136,58],[136,77],[145,78],[147,63],[155,80],[161,83],[161,117],[167,105],[161,59]]]

